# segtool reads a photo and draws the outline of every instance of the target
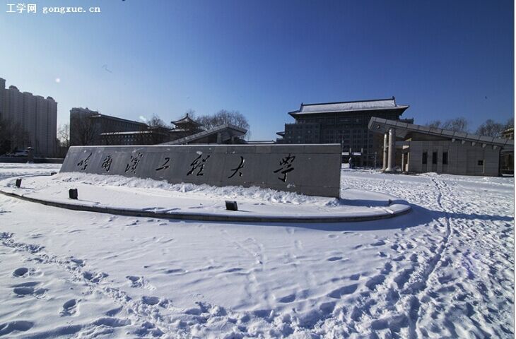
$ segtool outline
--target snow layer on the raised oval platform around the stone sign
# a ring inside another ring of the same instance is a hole
[[[395,196],[378,192],[346,188],[341,198],[305,196],[294,192],[261,189],[259,187],[215,187],[194,184],[169,184],[165,181],[98,175],[63,173],[23,178],[20,188],[16,177],[0,180],[0,189],[40,201],[66,203],[75,206],[136,210],[167,216],[220,216],[229,219],[259,221],[274,218],[281,222],[299,222],[300,218],[328,221],[327,218],[390,218],[406,213],[410,206]],[[69,189],[78,189],[78,199],[69,198]],[[238,211],[228,211],[226,200],[238,201]],[[141,215],[136,214],[135,215]],[[160,215],[160,218],[163,218]],[[236,219],[235,219],[236,218]],[[253,219],[254,218],[254,219]],[[324,220],[326,218],[326,220]],[[192,219],[192,218],[190,218]]]

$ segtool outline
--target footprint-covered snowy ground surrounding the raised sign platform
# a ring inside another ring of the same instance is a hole
[[[512,178],[344,169],[342,187],[413,210],[252,225],[0,196],[0,338],[514,337]]]

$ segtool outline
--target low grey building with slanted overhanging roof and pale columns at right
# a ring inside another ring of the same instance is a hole
[[[386,172],[500,175],[500,154],[514,152],[514,141],[435,129],[373,117],[368,128],[385,141]],[[397,161],[401,153],[401,161]]]

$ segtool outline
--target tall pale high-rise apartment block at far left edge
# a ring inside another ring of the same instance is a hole
[[[20,92],[16,86],[6,88],[0,78],[0,119],[16,129],[17,137],[11,148],[34,148],[40,157],[53,157],[57,151],[57,102],[52,97],[42,97]]]

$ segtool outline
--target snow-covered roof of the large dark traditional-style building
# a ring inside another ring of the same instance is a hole
[[[298,114],[315,114],[329,112],[353,112],[377,109],[406,109],[408,105],[397,105],[394,97],[378,100],[360,100],[345,102],[325,102],[319,104],[301,104],[297,111],[288,112],[291,116]]]

